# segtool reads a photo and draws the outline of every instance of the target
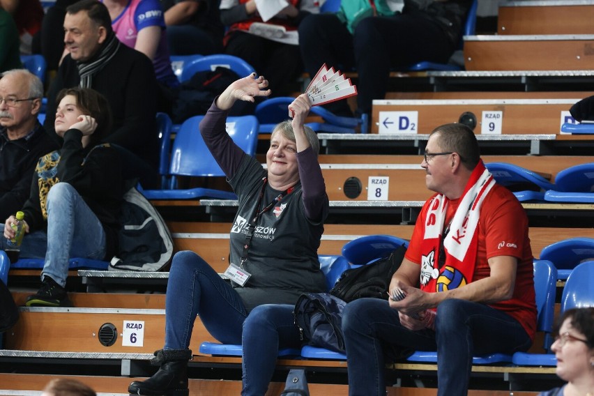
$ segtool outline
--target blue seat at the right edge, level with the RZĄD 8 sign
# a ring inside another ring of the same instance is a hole
[[[559,172],[554,190],[545,193],[546,201],[594,203],[594,162],[574,165]]]

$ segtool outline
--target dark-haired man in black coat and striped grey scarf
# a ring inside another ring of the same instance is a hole
[[[81,0],[67,8],[64,43],[69,54],[47,93],[45,129],[54,132],[57,93],[81,86],[101,93],[112,110],[114,128],[103,137],[124,153],[125,169],[141,178],[144,188],[156,184],[159,141],[156,123],[157,79],[145,54],[122,45],[103,3]]]

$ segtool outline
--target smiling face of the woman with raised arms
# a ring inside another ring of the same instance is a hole
[[[271,146],[266,153],[269,181],[291,183],[299,180],[297,166],[297,145],[275,130],[271,136]]]

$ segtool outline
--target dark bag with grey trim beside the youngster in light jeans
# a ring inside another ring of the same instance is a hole
[[[135,187],[123,199],[119,252],[109,270],[160,271],[173,255],[173,239],[165,220]]]

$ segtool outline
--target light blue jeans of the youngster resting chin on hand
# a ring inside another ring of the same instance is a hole
[[[0,238],[6,249],[6,239]],[[47,232],[26,234],[20,257],[43,259],[41,277],[50,276],[62,287],[68,277],[68,259],[105,258],[105,231],[95,213],[68,183],[57,183],[47,194]]]

